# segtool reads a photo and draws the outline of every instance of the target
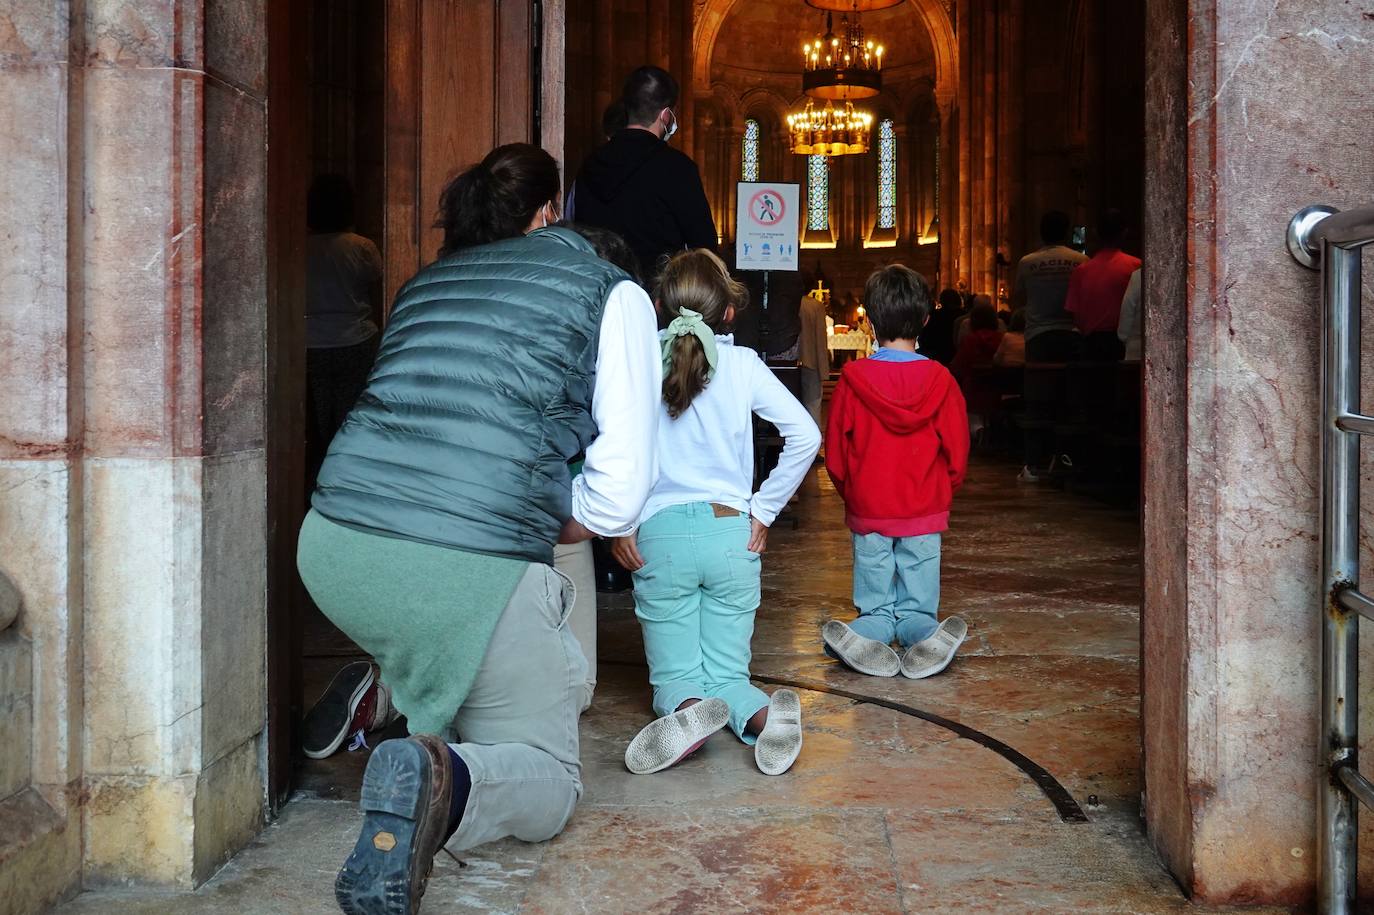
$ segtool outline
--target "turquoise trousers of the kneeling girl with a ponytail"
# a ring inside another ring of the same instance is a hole
[[[745,724],[768,708],[749,681],[749,643],[761,562],[749,551],[749,515],[705,501],[672,506],[639,528],[644,567],[635,573],[635,615],[644,632],[654,713],[719,697],[745,743]]]

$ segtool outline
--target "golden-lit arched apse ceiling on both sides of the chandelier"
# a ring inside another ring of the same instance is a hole
[[[800,95],[801,45],[823,32],[823,12],[802,0],[698,0],[692,36],[698,91],[728,84],[738,92],[760,87]],[[954,98],[956,44],[940,0],[908,0],[868,12],[863,25],[868,37],[888,48],[885,85],[900,91],[926,82],[941,100]]]

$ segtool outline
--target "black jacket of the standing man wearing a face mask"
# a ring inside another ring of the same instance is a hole
[[[620,232],[644,276],[664,254],[716,247],[697,163],[649,131],[620,131],[587,157],[574,194],[574,218]]]

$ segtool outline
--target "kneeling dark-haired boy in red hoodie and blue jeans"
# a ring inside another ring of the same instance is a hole
[[[948,370],[916,352],[930,315],[925,278],[875,271],[864,304],[878,352],[845,365],[826,430],[826,470],[853,532],[859,618],[820,633],[860,673],[921,679],[949,666],[969,632],[959,617],[937,617],[940,533],[969,464],[969,415]]]

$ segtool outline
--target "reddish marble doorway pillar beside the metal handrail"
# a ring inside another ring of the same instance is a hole
[[[1338,0],[1147,16],[1146,822],[1195,899],[1308,904],[1320,321],[1283,231],[1371,202],[1374,21]]]

